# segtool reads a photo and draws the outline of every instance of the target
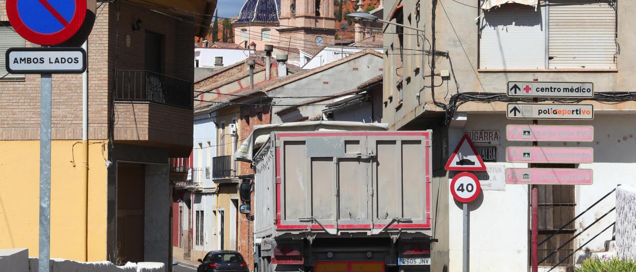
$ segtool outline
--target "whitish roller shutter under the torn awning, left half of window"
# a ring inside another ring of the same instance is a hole
[[[484,10],[480,69],[546,69],[545,8],[502,4]]]

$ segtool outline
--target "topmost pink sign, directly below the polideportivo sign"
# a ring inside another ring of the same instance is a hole
[[[537,142],[591,142],[593,126],[508,125],[506,139]]]

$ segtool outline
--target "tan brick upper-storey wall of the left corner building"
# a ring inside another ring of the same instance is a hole
[[[118,14],[119,13],[119,14]],[[142,20],[140,31],[132,25]],[[4,0],[0,0],[0,20],[6,20]],[[186,20],[186,19],[182,19]],[[150,11],[148,7],[126,1],[101,4],[93,30],[88,37],[88,122],[89,139],[107,139],[109,102],[114,87],[114,71],[144,70],[146,31],[163,34],[163,73],[192,81],[195,25]],[[32,45],[27,42],[27,47]],[[37,45],[34,45],[37,46]],[[2,76],[2,75],[0,75]],[[52,83],[53,140],[81,139],[82,76],[55,74]],[[39,139],[40,76],[26,75],[24,80],[0,80],[0,140]],[[145,108],[144,108],[145,107]],[[117,105],[113,114],[120,139],[149,139],[191,146],[192,112],[166,105],[132,107]],[[133,111],[134,110],[134,111]],[[153,114],[156,114],[153,115]],[[118,115],[118,116],[115,116]],[[121,130],[134,119],[139,131]],[[148,127],[148,123],[157,124]],[[167,120],[162,124],[162,120]],[[144,128],[145,126],[145,128]],[[148,134],[148,128],[151,133]],[[170,130],[167,128],[176,128]],[[144,132],[146,130],[146,132]],[[165,135],[163,135],[165,134]],[[125,137],[123,135],[126,135]]]

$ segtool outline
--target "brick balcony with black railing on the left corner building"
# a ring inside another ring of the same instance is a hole
[[[185,157],[192,148],[193,85],[149,71],[116,71],[113,137],[120,142],[167,147]]]

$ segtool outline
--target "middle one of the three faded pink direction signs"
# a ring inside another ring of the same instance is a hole
[[[593,163],[591,147],[506,147],[509,163]]]

